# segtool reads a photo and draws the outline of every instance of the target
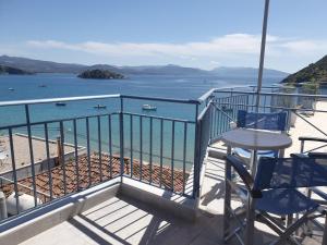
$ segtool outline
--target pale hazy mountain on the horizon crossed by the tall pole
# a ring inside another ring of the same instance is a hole
[[[258,69],[254,68],[217,68],[211,70],[211,73],[217,76],[234,76],[234,77],[256,77],[258,75]],[[264,69],[264,76],[266,77],[286,77],[289,74],[286,72]]]

